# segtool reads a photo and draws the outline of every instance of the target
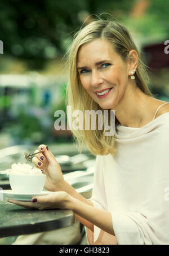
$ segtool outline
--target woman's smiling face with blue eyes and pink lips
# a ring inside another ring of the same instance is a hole
[[[102,109],[115,110],[126,90],[129,70],[112,44],[102,38],[79,49],[77,68],[82,86]]]

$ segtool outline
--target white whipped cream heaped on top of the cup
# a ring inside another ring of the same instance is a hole
[[[42,171],[38,168],[32,167],[27,163],[14,163],[8,174],[16,175],[43,175]]]

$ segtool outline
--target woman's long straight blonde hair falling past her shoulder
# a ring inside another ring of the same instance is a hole
[[[137,54],[139,55],[139,63],[135,73],[136,84],[142,92],[152,96],[152,93],[146,85],[148,82],[148,73],[146,72],[145,65],[141,61],[139,51],[126,27],[118,21],[103,19],[95,20],[75,33],[73,43],[68,50],[69,81],[66,93],[66,104],[72,106],[72,111],[81,110],[84,117],[85,110],[101,110],[103,112],[103,109],[101,109],[83,88],[77,71],[77,55],[80,47],[98,38],[104,38],[112,42],[115,51],[121,55],[123,60],[127,60],[130,50],[134,49],[137,51]],[[110,118],[110,110],[108,111]],[[68,120],[70,122],[69,115]],[[83,120],[83,125],[84,122],[85,120]],[[118,120],[115,118],[115,124],[117,123]],[[96,127],[97,124],[98,120],[96,120]],[[79,146],[80,151],[84,148],[94,155],[114,155],[117,151],[115,148],[115,136],[104,136],[104,128],[102,130],[79,129],[78,131],[72,128],[72,133],[75,143]]]

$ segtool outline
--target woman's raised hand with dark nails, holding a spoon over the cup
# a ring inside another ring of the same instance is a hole
[[[41,153],[34,155],[32,162],[36,168],[43,170],[44,174],[46,174],[45,189],[49,191],[64,191],[65,180],[60,164],[46,145],[40,145],[34,153],[38,151],[41,151]]]

